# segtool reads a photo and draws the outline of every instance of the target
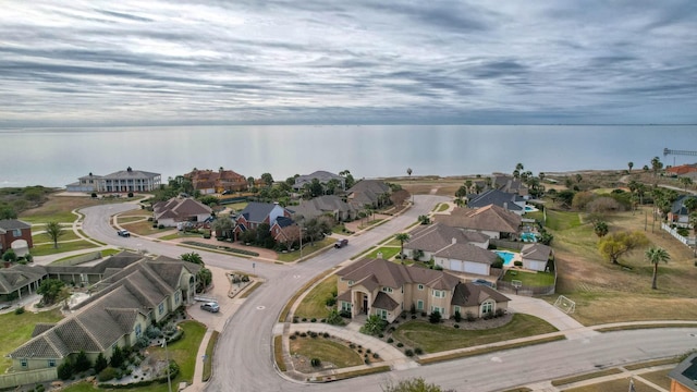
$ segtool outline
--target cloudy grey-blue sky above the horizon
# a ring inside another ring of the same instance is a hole
[[[697,123],[697,1],[3,1],[0,127]]]

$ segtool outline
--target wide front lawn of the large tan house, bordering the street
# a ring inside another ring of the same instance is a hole
[[[515,314],[505,326],[484,330],[455,329],[420,320],[408,321],[400,326],[392,336],[405,345],[420,347],[426,353],[438,353],[557,331],[557,328],[540,318]]]

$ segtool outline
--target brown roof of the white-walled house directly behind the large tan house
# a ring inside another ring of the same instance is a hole
[[[433,223],[413,230],[409,233],[409,241],[404,243],[404,248],[438,252],[452,245],[453,238],[461,244],[469,242],[484,243],[489,236],[481,233],[464,232],[443,223]]]

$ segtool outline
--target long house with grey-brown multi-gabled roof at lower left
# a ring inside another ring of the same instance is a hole
[[[158,257],[111,271],[99,290],[56,324],[38,324],[34,336],[11,352],[17,371],[57,368],[84,351],[107,359],[115,346],[132,346],[148,326],[193,301],[200,266]]]

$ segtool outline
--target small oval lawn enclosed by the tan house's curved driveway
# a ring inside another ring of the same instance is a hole
[[[363,365],[358,353],[341,343],[329,339],[297,338],[291,340],[291,353],[297,353],[308,358],[319,358],[323,363],[332,363],[339,368]]]

